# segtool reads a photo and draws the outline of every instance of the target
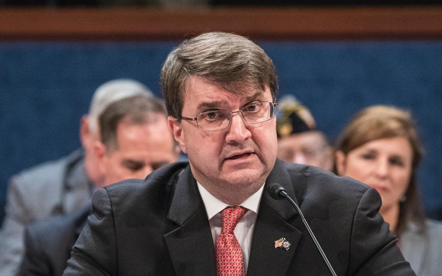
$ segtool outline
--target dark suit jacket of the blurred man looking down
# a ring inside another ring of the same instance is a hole
[[[25,255],[18,276],[61,276],[72,246],[86,224],[90,207],[55,216],[25,229]]]

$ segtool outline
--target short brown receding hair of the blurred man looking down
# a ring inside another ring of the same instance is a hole
[[[100,116],[100,138],[107,151],[118,148],[117,128],[121,121],[131,124],[155,123],[167,117],[164,102],[154,96],[138,95],[110,104]]]

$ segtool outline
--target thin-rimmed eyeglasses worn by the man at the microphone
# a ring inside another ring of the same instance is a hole
[[[187,118],[181,116],[180,118],[187,121],[196,121],[198,128],[203,131],[216,131],[229,126],[230,118],[234,113],[241,113],[244,121],[254,124],[269,121],[275,116],[275,106],[278,103],[259,102],[249,104],[238,111],[229,110],[213,110],[202,112],[195,118]]]

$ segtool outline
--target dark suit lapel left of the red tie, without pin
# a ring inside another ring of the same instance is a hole
[[[178,178],[168,218],[178,225],[164,236],[176,275],[216,276],[212,233],[189,166]]]

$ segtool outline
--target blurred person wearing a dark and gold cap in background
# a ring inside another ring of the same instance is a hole
[[[294,97],[282,98],[276,121],[278,158],[331,171],[333,149],[310,111]]]

